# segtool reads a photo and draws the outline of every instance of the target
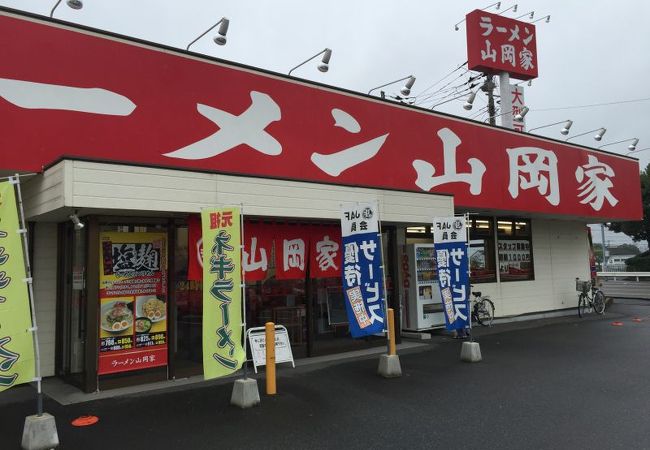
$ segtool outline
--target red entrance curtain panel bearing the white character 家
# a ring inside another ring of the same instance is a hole
[[[309,276],[341,276],[341,227],[313,227],[309,244]]]

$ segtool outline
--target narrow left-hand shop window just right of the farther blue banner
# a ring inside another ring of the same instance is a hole
[[[470,219],[469,239],[470,282],[495,282],[494,220],[491,217]]]

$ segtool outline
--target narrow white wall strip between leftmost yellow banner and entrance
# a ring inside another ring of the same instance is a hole
[[[57,225],[36,223],[34,231],[34,305],[41,350],[41,374],[54,375],[56,329]]]

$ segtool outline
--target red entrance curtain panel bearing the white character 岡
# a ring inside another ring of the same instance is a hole
[[[309,227],[280,225],[273,228],[275,278],[305,278],[309,261]]]

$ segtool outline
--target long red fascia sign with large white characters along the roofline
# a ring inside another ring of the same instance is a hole
[[[631,158],[7,13],[0,36],[1,169],[83,158],[642,217]]]

